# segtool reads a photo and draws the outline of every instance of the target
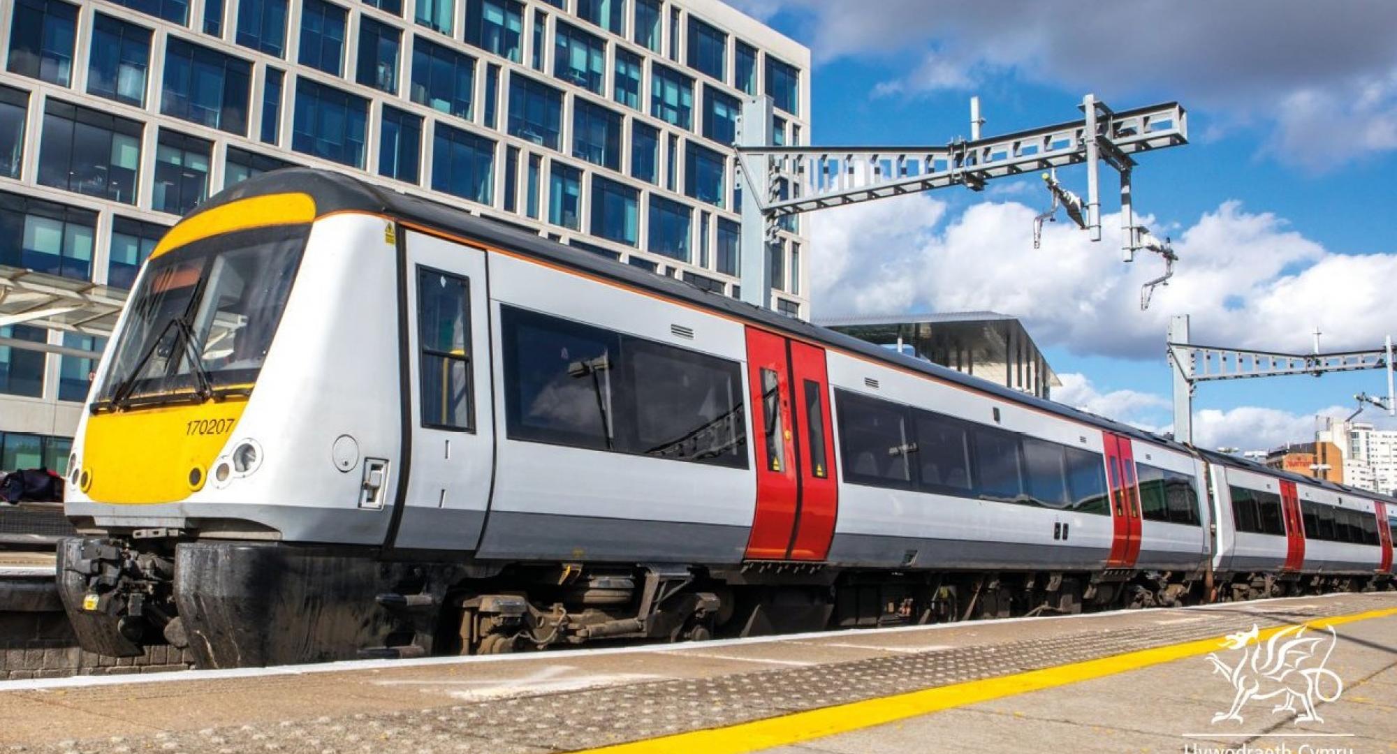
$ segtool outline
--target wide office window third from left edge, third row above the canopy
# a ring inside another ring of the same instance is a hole
[[[166,39],[161,113],[231,134],[247,133],[251,63]]]

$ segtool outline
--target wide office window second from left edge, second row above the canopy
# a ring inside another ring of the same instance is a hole
[[[39,183],[136,204],[141,124],[49,99],[43,108]]]

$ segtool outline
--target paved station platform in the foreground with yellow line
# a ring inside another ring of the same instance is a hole
[[[1397,593],[6,681],[11,750],[1390,753]]]

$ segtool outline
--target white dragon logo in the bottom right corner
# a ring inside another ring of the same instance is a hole
[[[1324,667],[1334,652],[1338,635],[1330,626],[1329,648],[1323,658],[1317,658],[1320,645],[1326,641],[1324,635],[1305,635],[1306,630],[1305,626],[1291,626],[1277,631],[1264,646],[1257,641],[1260,631],[1255,624],[1250,631],[1228,634],[1222,646],[1242,651],[1238,663],[1228,665],[1218,659],[1215,652],[1210,653],[1208,659],[1213,660],[1214,673],[1222,673],[1232,681],[1236,695],[1232,698],[1232,708],[1213,715],[1213,722],[1242,722],[1241,712],[1249,701],[1275,697],[1284,701],[1271,712],[1292,712],[1295,723],[1324,722],[1315,711],[1315,702],[1333,702],[1344,693],[1344,681],[1337,673]],[[1333,695],[1324,695],[1323,681],[1333,683]],[[1301,709],[1295,709],[1295,702],[1301,704]]]

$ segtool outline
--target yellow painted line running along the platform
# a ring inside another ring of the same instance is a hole
[[[1302,623],[1312,628],[1327,628],[1359,620],[1372,620],[1397,614],[1397,607],[1369,610],[1347,616],[1322,617]],[[1277,633],[1295,624],[1277,626],[1260,631],[1256,641],[1266,641]],[[922,691],[909,691],[891,697],[795,712],[780,718],[767,718],[746,723],[675,733],[659,739],[624,743],[588,750],[585,754],[651,754],[675,751],[703,751],[704,754],[738,754],[777,746],[789,746],[826,736],[835,736],[873,727],[930,712],[956,707],[968,707],[1030,691],[1053,688],[1080,683],[1127,670],[1139,670],[1153,665],[1164,665],[1185,658],[1215,652],[1222,646],[1222,637],[1140,649],[1123,655],[1112,655],[1092,660],[1059,665],[1042,670],[1030,670],[997,679],[939,686]]]

